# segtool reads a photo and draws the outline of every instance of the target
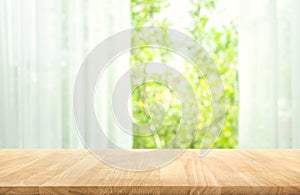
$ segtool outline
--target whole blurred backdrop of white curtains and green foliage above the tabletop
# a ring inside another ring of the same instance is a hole
[[[299,10],[298,0],[0,0],[0,147],[86,147],[73,115],[81,63],[114,33],[161,26],[198,41],[217,65],[226,106],[220,135],[214,139],[201,131],[212,118],[205,75],[199,77],[188,60],[170,51],[141,48],[121,56],[107,72],[105,90],[96,89],[95,110],[109,138],[124,148],[186,147],[181,138],[195,131],[193,117],[190,126],[177,131],[180,105],[162,85],[133,90],[128,104],[132,134],[126,139],[106,114],[120,73],[155,61],[180,70],[197,94],[200,131],[188,148],[200,148],[204,137],[213,148],[300,148]],[[132,34],[131,43],[136,36]],[[141,78],[146,73],[141,69]],[[131,84],[129,79],[128,89]],[[151,120],[149,114],[156,102],[167,110],[163,126],[156,126],[161,121]],[[86,113],[82,117],[89,118]],[[155,130],[139,136],[141,125],[150,121]],[[103,139],[90,137],[96,142]]]

